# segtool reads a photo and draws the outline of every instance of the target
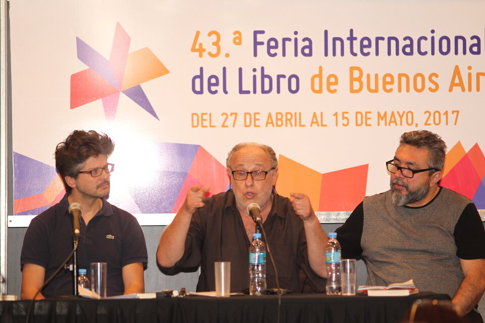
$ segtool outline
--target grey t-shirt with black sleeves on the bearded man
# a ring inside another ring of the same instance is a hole
[[[460,258],[485,258],[485,230],[474,204],[449,189],[421,207],[396,206],[391,191],[366,197],[359,207],[337,229],[337,239],[344,257],[364,258],[369,285],[413,279],[422,292],[453,297],[463,280]]]

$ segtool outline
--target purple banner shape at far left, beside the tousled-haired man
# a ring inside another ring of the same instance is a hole
[[[14,200],[41,194],[56,178],[57,172],[54,167],[15,151],[13,154]]]

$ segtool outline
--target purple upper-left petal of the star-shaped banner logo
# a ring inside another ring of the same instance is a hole
[[[81,38],[76,37],[76,43],[77,58],[79,61],[86,64],[87,67],[98,73],[101,77],[119,90],[120,86],[118,85],[115,75],[113,74],[113,69],[111,68],[110,62],[99,52],[81,40]]]

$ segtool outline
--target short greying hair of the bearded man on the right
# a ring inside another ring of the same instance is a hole
[[[415,130],[403,133],[399,143],[426,149],[428,151],[428,167],[443,171],[445,167],[446,143],[439,135],[428,130]],[[433,173],[430,172],[430,175]]]

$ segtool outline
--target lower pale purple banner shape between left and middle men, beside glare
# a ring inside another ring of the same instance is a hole
[[[171,213],[187,176],[183,172],[157,173],[150,187],[130,187],[131,197],[142,213]]]

